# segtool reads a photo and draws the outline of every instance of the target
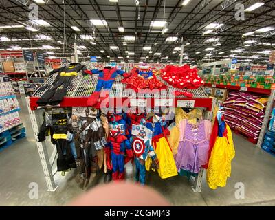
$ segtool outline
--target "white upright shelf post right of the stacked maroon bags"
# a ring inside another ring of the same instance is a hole
[[[274,98],[275,98],[275,90],[272,90],[271,94],[270,94],[270,98],[268,98],[267,106],[265,108],[265,118],[263,118],[263,124],[262,124],[262,127],[261,127],[261,132],[260,132],[259,139],[258,139],[258,142],[257,142],[257,145],[256,145],[259,148],[261,148],[261,146],[263,144],[263,138],[265,137],[265,131],[267,130],[267,125],[268,125],[268,122],[270,120],[270,113],[271,113],[272,108],[273,108]]]

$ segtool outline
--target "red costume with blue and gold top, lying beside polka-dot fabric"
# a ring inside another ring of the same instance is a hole
[[[161,81],[157,79],[154,72],[156,70],[150,67],[134,67],[131,74],[125,74],[121,83],[126,84],[126,89],[165,89]]]

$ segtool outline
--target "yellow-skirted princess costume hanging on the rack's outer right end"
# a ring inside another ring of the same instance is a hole
[[[219,117],[220,114],[217,113],[213,126],[210,140],[213,148],[206,175],[208,186],[212,189],[226,185],[226,180],[231,175],[231,161],[235,156],[230,127],[225,123],[223,116]]]

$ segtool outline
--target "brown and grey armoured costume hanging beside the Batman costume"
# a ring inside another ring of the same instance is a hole
[[[72,113],[69,124],[71,124],[71,132],[74,133],[76,143],[78,169],[76,181],[86,187],[91,173],[96,173],[100,168],[98,155],[103,153],[103,147],[107,141],[102,122],[97,118],[96,109],[74,107]]]

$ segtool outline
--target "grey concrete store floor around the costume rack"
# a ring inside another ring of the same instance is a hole
[[[27,137],[0,152],[0,206],[62,206],[85,192],[74,181],[74,172],[65,177],[55,175],[58,188],[47,192],[45,178],[24,96],[18,96],[20,116]],[[156,173],[147,175],[147,185],[159,191],[175,206],[275,206],[275,157],[234,134],[236,157],[232,175],[224,188],[211,190],[206,181],[202,192],[194,193],[185,177],[159,179]],[[51,150],[51,146],[49,146]],[[39,199],[30,199],[29,184],[39,186]],[[102,176],[91,182],[101,183]],[[237,182],[245,186],[245,198],[236,199]]]

